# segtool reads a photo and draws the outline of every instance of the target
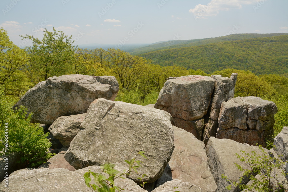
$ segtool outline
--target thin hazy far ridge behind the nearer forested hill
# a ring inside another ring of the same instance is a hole
[[[137,47],[132,49],[130,54],[139,55],[151,51],[163,50],[163,49],[172,49],[172,48],[181,48],[181,47],[191,47],[197,45],[206,45],[209,43],[217,43],[223,41],[236,41],[243,39],[252,39],[252,38],[261,38],[261,37],[275,37],[279,35],[288,35],[288,33],[268,33],[268,34],[259,34],[259,33],[245,33],[245,34],[232,34],[222,37],[213,37],[206,39],[193,39],[193,40],[175,40],[175,41],[162,41],[153,43],[143,47]]]

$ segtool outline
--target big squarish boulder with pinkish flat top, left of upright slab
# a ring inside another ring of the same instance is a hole
[[[214,83],[211,77],[200,75],[170,77],[154,107],[186,121],[201,119],[208,111]]]

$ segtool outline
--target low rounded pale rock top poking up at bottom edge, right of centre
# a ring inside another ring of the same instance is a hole
[[[177,187],[174,189],[174,187]],[[168,181],[163,185],[160,185],[156,189],[151,192],[174,192],[174,191],[181,191],[181,192],[202,192],[201,188],[193,185],[189,182],[182,182],[179,179],[174,179],[172,181]]]

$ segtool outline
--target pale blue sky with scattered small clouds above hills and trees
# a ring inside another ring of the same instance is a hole
[[[1,0],[0,27],[41,38],[54,26],[75,44],[155,43],[232,33],[287,33],[287,0]]]

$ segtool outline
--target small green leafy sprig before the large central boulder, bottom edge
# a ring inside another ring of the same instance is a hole
[[[142,157],[144,157],[145,159],[147,159],[147,157],[144,155],[144,151],[139,151],[137,153],[137,155],[141,155]],[[137,157],[136,155],[136,157]],[[117,178],[122,178],[125,179],[123,176],[127,176],[131,173],[132,170],[134,170],[136,173],[137,172],[137,168],[139,168],[141,165],[141,163],[143,163],[142,161],[136,160],[136,157],[131,159],[130,161],[128,160],[124,160],[128,165],[129,165],[129,169],[123,170],[122,173],[120,173],[120,171],[115,170],[115,164],[111,164],[111,163],[106,163],[103,166],[101,166],[101,170],[102,173],[94,173],[91,170],[89,170],[88,172],[86,172],[84,174],[84,180],[85,180],[85,184],[92,189],[92,191],[95,192],[116,192],[116,190],[122,191],[124,190],[124,188],[128,185],[125,185],[124,187],[119,187],[117,185],[115,185],[114,181]],[[136,165],[134,165],[136,164]],[[94,182],[95,183],[91,183],[91,178],[90,175],[92,175],[94,177]],[[141,181],[142,184],[140,184],[143,188],[146,182],[143,182],[143,178],[144,178],[145,174],[142,175]]]

